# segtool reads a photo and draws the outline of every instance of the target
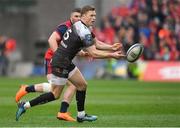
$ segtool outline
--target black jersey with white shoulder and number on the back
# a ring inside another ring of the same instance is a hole
[[[53,56],[52,66],[63,68],[70,65],[81,49],[93,45],[93,38],[94,35],[82,21],[73,24],[64,34]]]

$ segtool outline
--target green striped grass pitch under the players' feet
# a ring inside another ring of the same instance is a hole
[[[134,80],[90,80],[86,112],[98,116],[95,122],[65,122],[56,119],[60,100],[26,111],[15,121],[14,100],[20,84],[46,81],[43,77],[0,78],[0,127],[177,127],[180,126],[180,83]],[[30,100],[38,93],[28,94]],[[76,117],[76,102],[69,111]]]

